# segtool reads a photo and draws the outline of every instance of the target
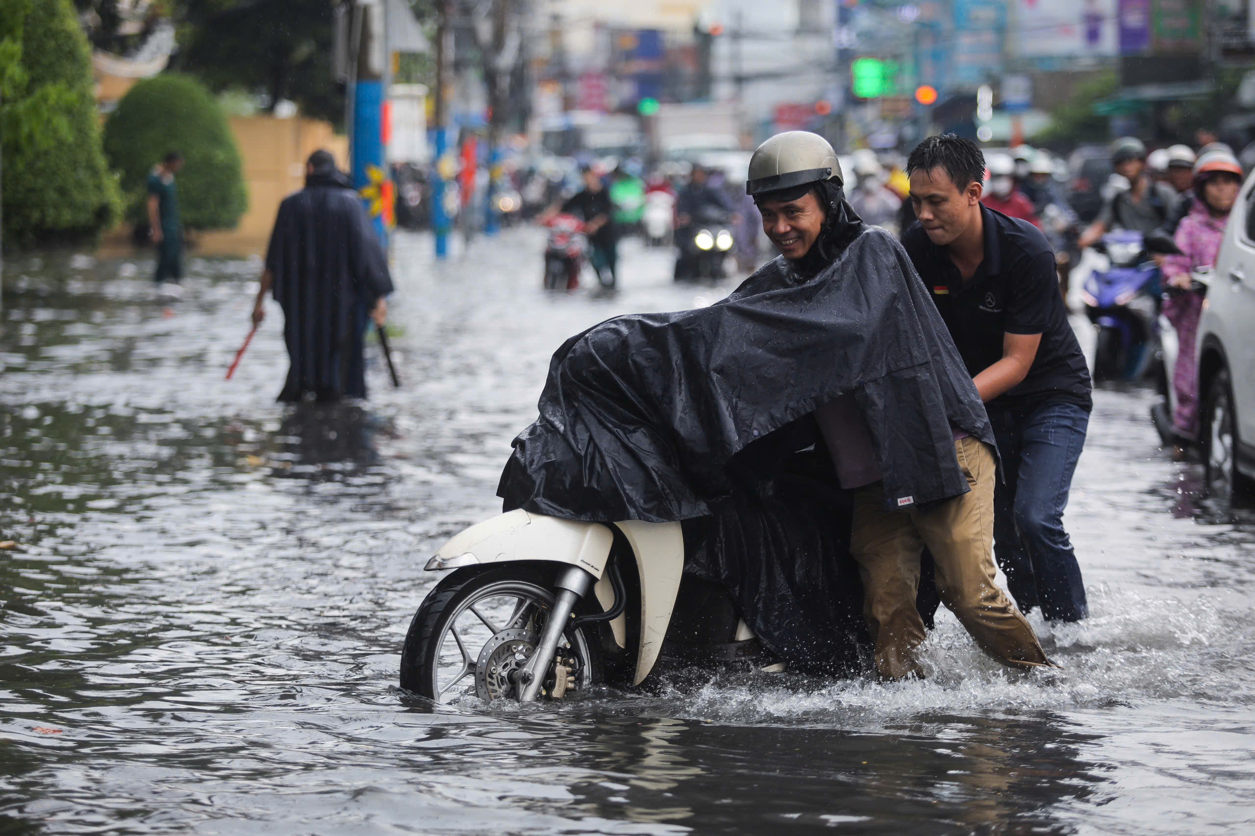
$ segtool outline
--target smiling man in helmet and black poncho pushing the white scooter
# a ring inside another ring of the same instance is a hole
[[[989,419],[906,252],[853,212],[836,153],[817,134],[761,146],[747,191],[782,257],[713,305],[617,316],[569,339],[550,364],[540,418],[515,439],[498,486],[506,510],[609,523],[718,516],[742,452],[768,437],[788,449],[826,442],[835,482],[855,497],[850,551],[876,670],[924,673],[915,649],[925,638],[925,546],[941,600],[986,653],[1048,665],[994,581]],[[744,536],[728,541],[747,562],[793,559]],[[769,601],[740,600],[768,645],[786,634],[754,611]]]

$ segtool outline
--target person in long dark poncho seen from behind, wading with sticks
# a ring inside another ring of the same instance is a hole
[[[279,205],[266,269],[252,309],[266,318],[266,294],[284,309],[291,365],[279,400],[365,398],[363,340],[383,328],[393,291],[388,257],[353,183],[330,152],[305,164],[305,188]]]

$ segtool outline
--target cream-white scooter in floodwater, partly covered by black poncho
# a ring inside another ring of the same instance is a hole
[[[720,585],[685,576],[685,589],[708,589],[676,606],[679,522],[510,511],[458,533],[427,564],[449,569],[457,571],[419,606],[402,650],[402,688],[428,699],[531,702],[605,682],[639,685],[660,655],[772,669]]]

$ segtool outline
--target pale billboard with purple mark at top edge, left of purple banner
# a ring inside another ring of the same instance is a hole
[[[1015,0],[1024,58],[1119,54],[1121,0]]]

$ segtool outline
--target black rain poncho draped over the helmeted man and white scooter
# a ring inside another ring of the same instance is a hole
[[[616,316],[569,339],[540,418],[515,439],[497,490],[506,510],[708,515],[739,451],[847,392],[887,507],[965,493],[954,431],[994,443],[980,395],[906,251],[856,225],[813,277],[777,257],[709,308]]]

